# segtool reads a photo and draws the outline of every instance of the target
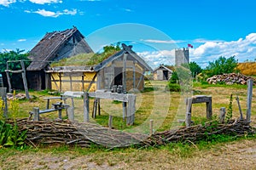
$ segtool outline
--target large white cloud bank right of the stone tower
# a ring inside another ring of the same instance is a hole
[[[220,56],[229,58],[233,55],[239,62],[256,59],[256,33],[239,38],[237,41],[207,41],[198,48],[189,48],[190,61],[193,60],[202,67],[207,66],[209,61],[212,62]]]

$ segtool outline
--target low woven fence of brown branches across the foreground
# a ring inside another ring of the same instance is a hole
[[[209,140],[212,135],[230,134],[243,136],[255,133],[255,129],[244,120],[233,121],[228,124],[219,124],[214,121],[204,125],[181,127],[165,132],[145,134],[125,133],[109,129],[92,123],[70,121],[39,121],[32,122],[26,119],[17,120],[19,130],[26,130],[26,144],[76,144],[81,147],[90,147],[91,144],[102,145],[107,148],[138,145],[139,147],[157,146],[172,142],[196,142]],[[14,124],[14,122],[9,122]]]

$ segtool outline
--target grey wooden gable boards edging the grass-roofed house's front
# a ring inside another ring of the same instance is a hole
[[[140,56],[138,56],[134,51],[131,50],[132,46],[126,46],[125,43],[122,43],[123,49],[117,52],[116,54],[111,55],[108,57],[108,59],[103,60],[100,64],[96,65],[94,68],[94,71],[100,71],[104,67],[106,67],[109,63],[111,63],[113,60],[118,59],[119,57],[123,56],[125,53],[128,54],[132,59],[136,60],[140,65],[143,66],[145,71],[153,71],[152,68],[145,62],[144,59],[142,59]]]

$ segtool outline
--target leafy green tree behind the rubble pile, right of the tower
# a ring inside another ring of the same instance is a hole
[[[220,75],[224,73],[234,72],[237,66],[237,61],[235,56],[232,56],[228,59],[225,57],[219,57],[213,62],[209,62],[207,66],[207,76],[212,77],[214,75]]]

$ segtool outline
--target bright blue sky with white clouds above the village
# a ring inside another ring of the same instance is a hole
[[[95,52],[126,41],[155,65],[172,64],[173,48],[188,43],[190,61],[202,67],[219,56],[254,61],[255,7],[254,0],[0,0],[0,51],[29,51],[46,32],[77,26]]]

